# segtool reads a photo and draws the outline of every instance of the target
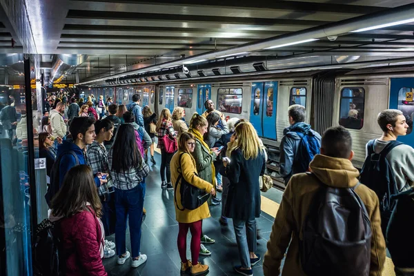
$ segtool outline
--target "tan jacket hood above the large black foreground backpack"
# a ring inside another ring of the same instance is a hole
[[[327,186],[351,188],[358,183],[359,171],[348,159],[315,155],[309,167],[313,174]]]

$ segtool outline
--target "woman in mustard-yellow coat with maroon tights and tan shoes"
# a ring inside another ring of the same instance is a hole
[[[206,193],[215,194],[213,185],[204,181],[197,176],[197,168],[195,166],[195,159],[191,155],[195,148],[195,137],[193,134],[184,132],[179,137],[178,152],[171,159],[171,178],[174,184],[174,200],[175,200],[175,218],[178,221],[179,232],[177,237],[177,246],[179,256],[181,257],[181,275],[190,273],[190,275],[204,275],[208,272],[208,266],[198,262],[199,250],[201,246],[201,221],[210,217],[210,210],[208,204],[203,205],[195,210],[187,210],[181,206],[181,195],[179,193],[181,188],[181,179],[185,179],[188,184],[191,184]],[[181,178],[179,179],[179,176]],[[179,181],[177,181],[179,179]],[[180,210],[181,209],[181,210]],[[191,262],[187,259],[187,233],[188,228],[191,232]]]

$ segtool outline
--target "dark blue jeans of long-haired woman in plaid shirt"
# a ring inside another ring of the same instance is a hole
[[[139,184],[131,190],[115,188],[115,211],[117,213],[115,245],[118,256],[126,253],[126,220],[129,217],[131,255],[132,258],[139,257],[145,190],[145,184]]]

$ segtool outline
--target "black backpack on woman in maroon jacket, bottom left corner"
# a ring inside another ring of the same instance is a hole
[[[43,219],[36,227],[33,239],[33,272],[35,276],[63,275],[64,262],[60,257],[61,231],[59,221]]]

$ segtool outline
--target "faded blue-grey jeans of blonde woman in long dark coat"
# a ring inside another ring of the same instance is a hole
[[[249,252],[256,252],[256,219],[244,221],[233,219],[235,226],[237,248],[239,249],[240,262],[242,268],[250,268]]]

